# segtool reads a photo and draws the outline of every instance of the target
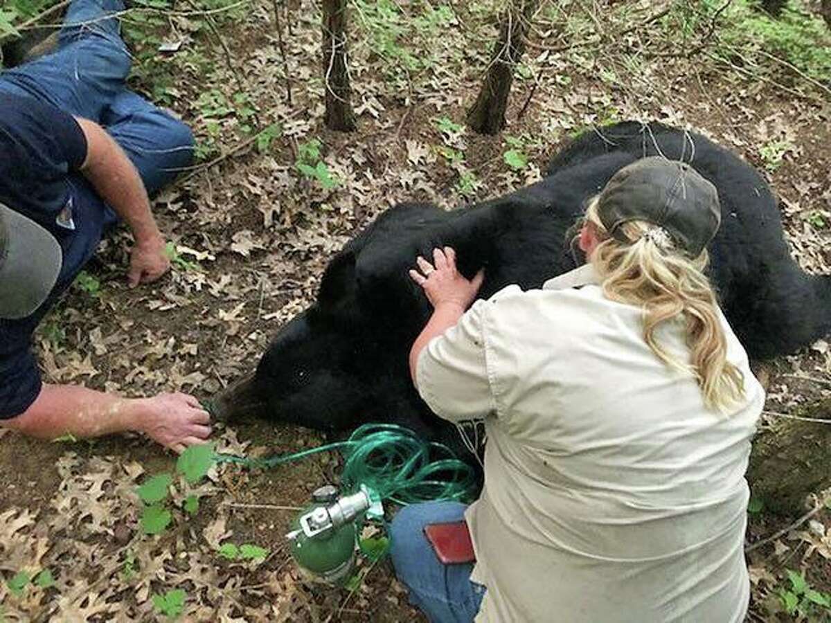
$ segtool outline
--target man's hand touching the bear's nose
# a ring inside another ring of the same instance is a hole
[[[210,415],[194,396],[160,394],[141,403],[140,430],[177,454],[189,445],[204,444],[211,433]]]

